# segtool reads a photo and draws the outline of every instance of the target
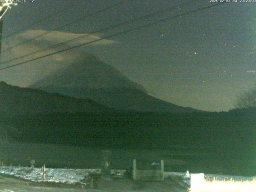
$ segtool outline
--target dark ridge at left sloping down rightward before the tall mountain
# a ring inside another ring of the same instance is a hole
[[[109,110],[91,99],[78,99],[0,82],[0,115]]]

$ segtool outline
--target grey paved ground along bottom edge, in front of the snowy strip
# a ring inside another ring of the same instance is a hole
[[[114,180],[95,183],[94,189],[86,186],[47,186],[47,184],[28,182],[15,177],[0,175],[0,192],[187,192],[186,186],[166,179],[163,182],[134,182],[132,180]]]

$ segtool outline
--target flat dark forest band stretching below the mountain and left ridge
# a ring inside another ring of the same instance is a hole
[[[118,148],[168,148],[174,143],[191,146],[203,142],[228,147],[253,141],[255,116],[255,110],[190,114],[78,112],[22,115],[13,118],[10,125],[23,130],[22,140],[35,142]],[[46,134],[43,140],[42,133]]]

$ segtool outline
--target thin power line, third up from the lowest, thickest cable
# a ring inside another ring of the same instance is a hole
[[[95,14],[98,14],[98,13],[100,13],[100,12],[106,11],[106,10],[108,10],[108,9],[110,9],[110,8],[115,7],[115,6],[119,6],[120,4],[125,3],[126,1],[129,1],[129,0],[124,0],[124,1],[122,1],[122,2],[120,2],[120,3],[116,3],[116,4],[112,5],[112,6],[108,6],[108,7],[106,7],[106,8],[101,9],[101,10],[98,10],[98,11],[96,11],[96,12],[94,12],[94,13],[87,14],[86,16],[84,16],[84,17],[82,17],[82,18],[76,19],[76,20],[74,20],[74,21],[72,21],[72,22],[69,22],[69,23],[66,23],[66,24],[64,24],[64,25],[62,25],[62,26],[60,26],[60,27],[54,28],[53,30],[50,30],[50,31],[48,31],[48,32],[45,32],[45,33],[43,33],[43,34],[41,34],[41,35],[39,35],[39,36],[36,36],[36,37],[34,37],[34,38],[32,38],[32,39],[26,40],[26,41],[24,41],[24,42],[22,42],[22,43],[20,43],[20,44],[16,44],[16,45],[14,45],[14,46],[12,46],[12,47],[9,47],[9,48],[7,48],[6,50],[2,51],[1,53],[6,52],[6,51],[8,51],[8,50],[10,50],[10,49],[12,49],[12,48],[14,48],[14,47],[16,47],[16,46],[20,46],[20,45],[22,45],[22,44],[24,44],[24,43],[30,42],[30,41],[32,41],[32,40],[35,40],[35,39],[37,39],[37,38],[39,38],[39,37],[42,37],[42,36],[44,36],[44,35],[46,35],[46,34],[52,32],[52,31],[58,30],[58,29],[60,29],[60,28],[63,28],[63,27],[65,27],[65,26],[68,26],[68,25],[70,25],[70,24],[73,24],[73,23],[75,23],[75,22],[78,22],[78,21],[80,21],[80,20],[83,20],[83,19],[85,19],[85,18],[87,18],[87,17],[90,17],[90,16],[92,16],[92,15],[95,15]]]

